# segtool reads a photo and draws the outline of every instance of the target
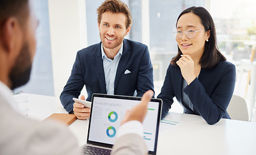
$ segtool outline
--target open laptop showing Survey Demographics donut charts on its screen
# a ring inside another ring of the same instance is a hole
[[[95,150],[91,149],[99,148],[101,148],[100,151],[106,151],[100,154],[110,154],[126,110],[131,109],[138,103],[141,103],[141,98],[93,94],[84,154],[91,151],[95,152]],[[148,112],[143,121],[143,138],[148,147],[148,154],[156,154],[161,107],[161,99],[151,99],[148,103]]]

